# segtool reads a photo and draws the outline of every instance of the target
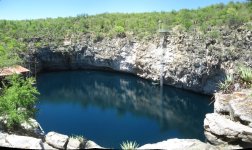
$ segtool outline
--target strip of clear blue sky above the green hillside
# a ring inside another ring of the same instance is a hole
[[[0,19],[56,18],[104,12],[194,9],[231,0],[0,0]],[[235,0],[244,2],[246,0]]]

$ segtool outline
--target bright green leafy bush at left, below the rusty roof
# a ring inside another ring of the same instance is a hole
[[[7,128],[15,129],[22,122],[34,117],[38,91],[32,86],[33,78],[24,79],[19,75],[7,78],[8,86],[0,91],[0,116],[7,120]]]

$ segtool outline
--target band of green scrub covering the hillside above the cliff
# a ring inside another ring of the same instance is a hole
[[[252,9],[248,1],[171,12],[104,13],[94,16],[81,14],[77,17],[56,19],[0,20],[0,50],[14,48],[14,51],[24,51],[28,47],[58,45],[64,39],[77,41],[85,34],[91,35],[94,42],[104,37],[116,36],[134,36],[141,40],[157,35],[159,20],[162,20],[162,26],[167,29],[180,26],[182,31],[193,33],[197,29],[205,33],[211,27],[225,25],[233,28],[251,19]],[[210,36],[216,38],[219,33],[213,31]]]

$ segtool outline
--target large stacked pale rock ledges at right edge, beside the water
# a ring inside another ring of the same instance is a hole
[[[215,145],[252,147],[252,89],[215,94],[214,112],[204,120],[205,136]]]

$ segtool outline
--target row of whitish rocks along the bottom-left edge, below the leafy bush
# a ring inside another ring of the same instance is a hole
[[[0,147],[21,149],[90,149],[102,148],[93,141],[69,138],[67,135],[49,132],[45,138],[34,138],[0,132]]]

